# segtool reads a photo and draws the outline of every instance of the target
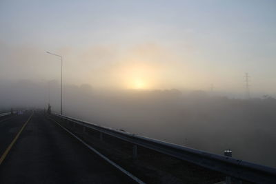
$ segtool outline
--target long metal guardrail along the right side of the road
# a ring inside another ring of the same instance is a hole
[[[167,154],[177,159],[221,172],[226,174],[226,176],[233,176],[235,178],[253,183],[276,183],[276,168],[273,167],[258,165],[234,159],[229,156],[212,154],[210,152],[204,152],[190,147],[150,139],[148,137],[131,134],[129,132],[122,132],[110,127],[104,127],[95,123],[74,119],[70,116],[63,116],[60,114],[55,115],[84,127],[97,130],[103,134],[108,134],[118,139],[128,141],[129,143],[133,143],[135,146],[139,145],[141,147],[146,147],[150,150],[155,150],[157,152],[161,152],[162,154]]]

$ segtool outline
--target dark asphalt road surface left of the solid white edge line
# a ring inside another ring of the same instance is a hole
[[[12,141],[12,136],[6,138],[3,134],[18,132],[28,115],[15,116],[3,125],[0,123],[1,150],[5,150],[7,143]],[[134,181],[88,150],[59,125],[46,119],[43,113],[35,112],[0,165],[0,183]]]

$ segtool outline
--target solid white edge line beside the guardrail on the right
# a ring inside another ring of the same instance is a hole
[[[55,119],[52,119],[50,117],[49,117],[49,119],[52,120],[52,121],[54,121],[55,123],[57,123],[57,125],[59,125],[60,127],[62,127],[63,130],[66,130],[66,132],[68,132],[73,137],[75,137],[78,141],[80,141],[81,143],[83,143],[83,145],[86,145],[86,147],[88,147],[90,150],[92,150],[92,152],[95,152],[95,154],[99,155],[103,160],[107,161],[108,163],[110,163],[111,165],[113,165],[114,167],[116,167],[118,170],[120,170],[121,172],[123,172],[124,174],[126,174],[127,176],[129,176],[130,178],[132,178],[132,180],[134,180],[134,181],[136,181],[137,183],[140,183],[140,184],[146,184],[146,183],[144,183],[144,181],[141,181],[139,178],[137,178],[136,176],[134,176],[133,174],[131,174],[130,172],[128,172],[127,170],[125,170],[123,167],[117,165],[117,163],[111,161],[110,159],[108,159],[108,157],[106,157],[103,154],[101,154],[100,152],[98,152],[95,148],[93,148],[92,146],[88,145],[88,143],[86,143],[85,141],[83,141],[82,139],[80,139],[78,136],[76,136],[75,134],[73,134],[72,132],[70,132],[70,130],[68,130],[66,127],[63,127],[61,124],[59,124],[57,121],[55,121]]]

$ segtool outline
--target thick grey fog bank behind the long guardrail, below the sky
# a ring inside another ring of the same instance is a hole
[[[59,112],[57,81],[2,82],[0,109]],[[204,91],[98,90],[65,85],[63,114],[127,132],[276,167],[276,100],[229,99]]]

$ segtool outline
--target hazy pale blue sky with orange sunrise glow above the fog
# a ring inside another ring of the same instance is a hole
[[[275,94],[275,1],[1,1],[0,79]]]

